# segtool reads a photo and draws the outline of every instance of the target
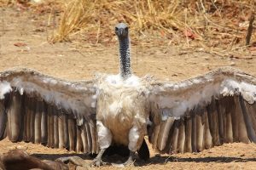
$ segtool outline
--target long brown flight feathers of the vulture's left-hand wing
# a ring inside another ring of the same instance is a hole
[[[73,114],[16,92],[11,94],[9,105],[3,106],[1,111],[3,115],[0,115],[0,120],[5,120],[1,124],[1,139],[6,137],[4,132],[7,129],[7,136],[12,142],[23,140],[51,148],[98,152],[95,120],[79,126]],[[84,128],[85,134],[81,128]]]

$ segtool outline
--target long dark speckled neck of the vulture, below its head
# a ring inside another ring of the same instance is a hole
[[[120,75],[124,79],[131,77],[131,54],[129,37],[119,38]]]

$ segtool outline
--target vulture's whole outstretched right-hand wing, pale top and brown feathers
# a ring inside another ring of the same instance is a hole
[[[183,82],[154,82],[150,92],[148,135],[161,153],[256,143],[255,77],[222,68]]]

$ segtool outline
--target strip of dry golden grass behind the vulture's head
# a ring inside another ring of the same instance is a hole
[[[221,41],[230,48],[244,46],[255,6],[253,0],[72,0],[65,5],[52,40],[69,41],[85,32],[93,42],[102,42],[113,37],[113,26],[122,21],[131,27],[133,39],[146,35],[175,45],[214,48]]]

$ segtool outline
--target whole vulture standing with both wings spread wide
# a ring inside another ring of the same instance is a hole
[[[145,157],[145,136],[161,154],[256,142],[255,77],[230,67],[181,82],[136,77],[128,26],[119,23],[115,34],[118,75],[70,82],[29,69],[1,72],[0,139],[96,153],[97,167],[112,145],[128,147],[125,165],[137,150]]]

